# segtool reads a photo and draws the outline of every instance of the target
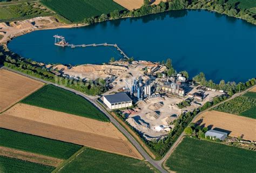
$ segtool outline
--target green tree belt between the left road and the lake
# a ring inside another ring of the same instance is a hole
[[[37,63],[33,63],[29,59],[18,57],[17,54],[14,55],[14,57],[11,57],[11,54],[5,55],[3,52],[1,52],[0,64],[3,64],[4,66],[13,70],[29,74],[36,78],[76,89],[77,91],[83,92],[87,95],[98,95],[107,91],[106,81],[103,79],[96,79],[95,81],[84,81],[82,79],[77,80],[73,78],[62,77],[61,75],[52,73],[51,70],[48,70],[45,67],[38,65]]]

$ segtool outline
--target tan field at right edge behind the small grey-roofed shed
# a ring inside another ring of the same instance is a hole
[[[202,118],[201,124],[205,124],[205,127],[212,125],[212,129],[220,128],[231,131],[230,136],[238,137],[244,134],[243,139],[256,141],[255,119],[212,110],[201,114],[194,122]]]

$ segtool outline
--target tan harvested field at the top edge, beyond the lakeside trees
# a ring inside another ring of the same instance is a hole
[[[152,4],[159,4],[161,1],[166,2],[166,0],[155,0]],[[143,4],[143,0],[114,0],[114,2],[123,6],[128,10],[139,9]]]

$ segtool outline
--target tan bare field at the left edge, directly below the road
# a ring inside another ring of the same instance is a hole
[[[41,88],[42,82],[0,70],[0,112]]]

